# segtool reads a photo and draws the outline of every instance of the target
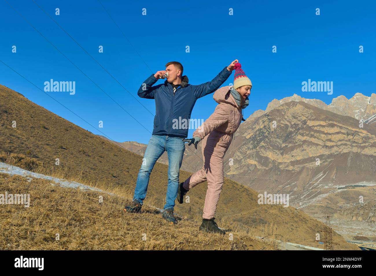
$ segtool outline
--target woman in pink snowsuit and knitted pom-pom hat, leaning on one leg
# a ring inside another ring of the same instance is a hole
[[[218,103],[214,113],[193,133],[188,146],[202,140],[202,155],[204,166],[202,169],[180,183],[177,191],[177,201],[183,203],[188,190],[204,181],[208,181],[203,219],[200,230],[225,234],[214,221],[219,195],[223,185],[223,157],[231,143],[233,133],[238,129],[243,119],[242,110],[249,104],[248,95],[252,83],[241,69],[240,63],[235,63],[233,87],[229,90],[219,89],[213,98]]]

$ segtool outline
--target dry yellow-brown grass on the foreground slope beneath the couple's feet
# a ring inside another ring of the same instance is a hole
[[[198,231],[200,220],[183,217],[166,222],[146,204],[139,214],[122,211],[129,191],[108,193],[53,186],[50,181],[0,173],[0,191],[30,194],[30,207],[3,205],[0,209],[0,249],[19,250],[273,250],[246,232],[229,235]],[[103,196],[103,203],[99,202]],[[228,234],[229,234],[228,233]],[[59,234],[59,240],[56,240]],[[145,235],[144,235],[145,234]],[[143,240],[146,237],[146,240]]]

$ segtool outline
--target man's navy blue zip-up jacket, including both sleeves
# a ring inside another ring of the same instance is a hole
[[[173,87],[167,80],[162,84],[153,86],[158,79],[152,74],[144,81],[137,94],[141,98],[155,99],[156,114],[154,116],[153,135],[176,135],[186,138],[192,109],[196,100],[217,90],[231,73],[225,67],[212,81],[200,85],[188,84],[188,77],[183,76],[181,87],[178,87],[176,92],[174,92]],[[186,128],[173,127],[173,120],[179,121],[179,117],[180,121],[184,122],[183,119],[186,119],[188,122]]]

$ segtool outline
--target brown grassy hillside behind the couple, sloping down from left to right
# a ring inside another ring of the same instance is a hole
[[[43,95],[42,95],[43,96]],[[24,154],[43,163],[51,173],[77,177],[86,184],[100,183],[106,187],[121,187],[132,194],[142,157],[120,148],[71,122],[32,103],[21,94],[0,86],[0,151]],[[11,104],[10,104],[11,103]],[[12,121],[17,127],[12,128]],[[61,166],[55,165],[59,158]],[[167,189],[167,170],[156,163],[150,176],[146,204],[162,208]],[[190,173],[180,171],[180,181]],[[177,205],[179,214],[202,213],[207,182],[195,187],[187,195],[189,204]],[[315,242],[323,223],[295,208],[277,205],[259,205],[254,190],[230,179],[225,179],[218,203],[217,218],[229,220],[237,228],[255,226],[259,231],[268,223],[275,223],[280,240],[322,247]],[[122,209],[124,204],[117,205]],[[199,224],[194,225],[196,229]],[[220,225],[221,226],[221,225]],[[356,249],[334,233],[335,249]]]

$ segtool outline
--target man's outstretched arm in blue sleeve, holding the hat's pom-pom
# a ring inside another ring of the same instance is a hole
[[[212,79],[212,81],[208,81],[200,85],[195,85],[193,93],[196,98],[201,98],[217,90],[227,80],[227,78],[230,77],[232,70],[235,68],[235,63],[237,62],[238,60],[235,59],[230,63],[229,66],[223,68],[222,71],[219,72],[217,77]]]

